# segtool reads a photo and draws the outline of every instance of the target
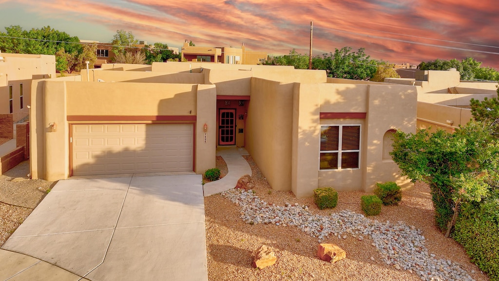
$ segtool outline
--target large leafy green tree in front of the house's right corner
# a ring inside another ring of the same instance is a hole
[[[471,103],[476,120],[455,133],[397,131],[390,153],[402,174],[430,185],[436,222],[446,237],[462,203],[480,202],[498,189],[499,143],[494,136],[498,132],[498,100]]]

